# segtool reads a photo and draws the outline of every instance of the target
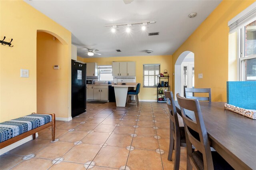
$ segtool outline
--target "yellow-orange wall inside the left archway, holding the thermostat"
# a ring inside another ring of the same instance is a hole
[[[51,34],[37,34],[37,113],[55,113],[56,117],[68,115],[68,45]],[[53,66],[58,65],[59,70]]]

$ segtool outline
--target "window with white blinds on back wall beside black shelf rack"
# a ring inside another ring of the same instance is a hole
[[[143,64],[143,87],[157,87],[160,64]]]

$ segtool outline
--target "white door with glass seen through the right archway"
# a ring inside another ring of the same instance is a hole
[[[185,97],[185,88],[194,87],[194,62],[181,64],[181,96]],[[192,96],[192,94],[189,94]]]

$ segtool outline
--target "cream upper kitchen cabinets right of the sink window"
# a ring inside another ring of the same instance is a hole
[[[135,62],[112,62],[113,76],[136,76]]]

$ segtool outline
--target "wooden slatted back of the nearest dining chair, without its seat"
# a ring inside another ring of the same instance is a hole
[[[189,156],[190,164],[195,169],[199,169],[196,166],[196,163],[194,162],[191,154],[192,154],[192,144],[194,147],[200,151],[203,155],[204,160],[204,170],[213,170],[213,162],[212,162],[212,154],[210,149],[210,143],[208,140],[207,131],[204,125],[204,120],[202,117],[200,105],[198,102],[198,99],[187,99],[184,97],[181,97],[180,94],[176,94],[178,103],[180,105],[180,110],[182,114],[182,119],[184,122],[185,127],[185,134],[186,134],[186,144],[187,144],[187,156]],[[186,110],[185,110],[186,109]],[[194,112],[196,121],[193,121],[192,119],[188,118],[186,116],[187,111]],[[199,134],[199,139],[196,138],[196,136],[193,136],[195,133],[191,133],[189,128],[194,130]]]

